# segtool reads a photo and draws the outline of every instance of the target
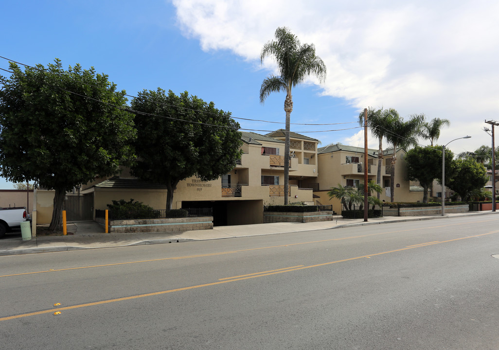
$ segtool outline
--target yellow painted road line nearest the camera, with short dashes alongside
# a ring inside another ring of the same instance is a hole
[[[162,295],[162,294],[168,294],[168,293],[173,293],[173,292],[187,291],[187,290],[190,290],[190,289],[216,286],[216,285],[220,285],[220,284],[224,284],[224,283],[230,283],[230,282],[248,280],[248,279],[251,279],[251,278],[276,275],[276,274],[279,274],[279,273],[291,272],[291,271],[297,271],[297,270],[303,270],[303,269],[309,269],[309,268],[312,268],[312,267],[326,266],[326,265],[336,264],[336,263],[339,263],[339,262],[357,260],[357,259],[362,259],[362,258],[370,258],[370,257],[376,256],[376,255],[383,255],[383,254],[388,254],[388,253],[400,252],[400,251],[408,250],[408,249],[421,248],[421,247],[425,247],[425,246],[433,245],[433,244],[441,244],[441,243],[459,241],[459,240],[462,240],[462,239],[469,239],[469,238],[475,238],[475,237],[480,237],[480,236],[486,236],[486,235],[489,235],[489,234],[492,234],[492,233],[497,233],[497,232],[499,232],[499,230],[493,231],[493,232],[489,232],[489,233],[482,233],[482,234],[477,234],[477,235],[473,235],[473,236],[468,236],[468,237],[461,237],[461,238],[449,239],[447,241],[435,241],[435,242],[429,242],[429,243],[422,243],[422,245],[418,244],[418,245],[408,246],[408,247],[401,248],[401,249],[394,249],[394,250],[389,250],[389,251],[381,252],[381,253],[374,253],[374,254],[357,256],[357,257],[354,257],[354,258],[348,258],[348,259],[330,261],[330,262],[325,262],[325,263],[316,264],[316,265],[310,265],[310,266],[298,265],[298,266],[292,266],[292,267],[287,267],[287,268],[282,268],[282,269],[257,272],[257,273],[247,274],[247,275],[222,278],[218,282],[199,284],[199,285],[196,285],[196,286],[182,287],[182,288],[170,289],[170,290],[161,291],[161,292],[139,294],[139,295],[134,295],[134,296],[130,296],[130,297],[116,298],[116,299],[110,299],[110,300],[102,300],[102,301],[93,302],[93,303],[79,304],[79,305],[67,306],[67,307],[63,307],[63,308],[56,308],[56,309],[42,310],[42,311],[37,311],[37,312],[32,312],[32,313],[27,313],[27,314],[7,316],[7,317],[0,318],[0,322],[1,321],[13,320],[13,319],[19,319],[19,318],[23,318],[23,317],[29,317],[29,316],[36,316],[36,315],[42,315],[42,314],[51,314],[51,313],[54,313],[54,312],[57,312],[57,311],[79,309],[79,308],[84,308],[84,307],[87,307],[87,306],[97,306],[97,305],[103,305],[103,304],[121,302],[121,301],[126,301],[126,300],[133,300],[133,299],[139,299],[139,298],[153,297],[153,296]]]

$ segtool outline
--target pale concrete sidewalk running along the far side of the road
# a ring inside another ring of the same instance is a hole
[[[375,225],[391,222],[405,222],[431,219],[449,219],[461,216],[495,214],[499,212],[479,211],[464,214],[446,214],[445,216],[387,216],[381,218],[343,219],[334,216],[333,221],[322,222],[277,222],[255,225],[217,226],[213,230],[196,230],[184,232],[151,232],[151,233],[104,233],[104,227],[94,221],[75,221],[67,225],[66,236],[38,236],[29,241],[23,241],[19,235],[0,239],[0,255],[16,255],[30,253],[45,253],[67,250],[82,250],[96,248],[125,247],[144,244],[162,244],[208,239],[234,237],[249,237],[269,234],[325,230],[331,228]]]

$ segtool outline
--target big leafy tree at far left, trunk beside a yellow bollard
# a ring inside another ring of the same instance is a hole
[[[49,229],[60,229],[66,191],[110,176],[133,158],[133,115],[105,74],[55,59],[22,71],[10,63],[0,83],[0,173],[54,189]]]

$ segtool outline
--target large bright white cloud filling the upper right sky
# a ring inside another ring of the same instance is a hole
[[[337,0],[173,0],[185,35],[204,50],[231,50],[259,66],[278,26],[313,42],[328,68],[322,94],[402,116],[447,118],[441,141],[490,144],[484,119],[499,97],[499,2]],[[265,67],[272,67],[269,61]],[[312,83],[316,81],[312,80]],[[355,142],[352,139],[352,143]],[[473,145],[473,146],[470,146]],[[457,151],[459,152],[459,151]]]

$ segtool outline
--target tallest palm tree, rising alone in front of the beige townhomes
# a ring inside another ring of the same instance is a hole
[[[289,123],[293,110],[291,88],[305,81],[310,76],[316,76],[320,82],[326,78],[326,66],[322,59],[315,55],[313,44],[301,44],[296,35],[287,27],[275,30],[275,39],[268,41],[260,53],[260,62],[267,56],[273,56],[277,62],[279,75],[270,74],[261,83],[260,103],[272,92],[286,92],[284,111],[286,112],[286,131],[284,144],[284,204],[288,203],[289,185]]]

